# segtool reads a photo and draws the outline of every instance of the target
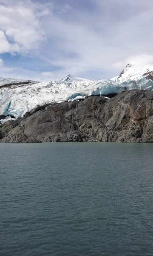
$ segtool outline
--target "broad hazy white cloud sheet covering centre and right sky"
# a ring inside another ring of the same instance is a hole
[[[147,1],[143,6],[140,4],[143,8],[136,6],[133,0],[126,0],[125,5],[122,0],[98,0],[93,3],[95,6],[97,4],[97,12],[78,12],[73,8],[69,19],[52,13],[43,20],[48,40],[54,40],[56,45],[52,49],[47,46],[46,54],[41,57],[51,65],[63,67],[62,76],[68,73],[83,76],[83,73],[88,73],[96,79],[102,78],[103,70],[106,70],[108,78],[111,78],[129,62],[129,56],[137,56],[142,52],[146,56],[153,54],[152,33],[146,35],[146,30],[150,30],[150,24],[153,23],[150,10],[153,3]],[[74,58],[69,57],[71,52]],[[116,71],[114,63],[117,63]],[[94,75],[97,71],[99,77]]]

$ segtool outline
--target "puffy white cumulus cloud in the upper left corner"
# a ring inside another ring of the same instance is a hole
[[[38,49],[45,37],[37,15],[45,11],[28,0],[0,0],[0,52],[25,53]],[[2,38],[3,36],[3,38]],[[10,43],[13,42],[13,43]]]

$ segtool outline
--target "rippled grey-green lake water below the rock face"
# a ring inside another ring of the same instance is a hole
[[[0,256],[47,255],[153,255],[153,144],[0,143]]]

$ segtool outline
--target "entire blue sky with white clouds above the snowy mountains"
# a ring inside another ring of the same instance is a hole
[[[153,63],[153,0],[0,0],[0,76],[111,79]]]

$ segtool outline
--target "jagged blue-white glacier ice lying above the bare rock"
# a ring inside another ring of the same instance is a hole
[[[111,93],[120,93],[124,90],[143,89],[153,90],[153,81],[142,78],[143,70],[133,70],[136,78],[129,78],[131,67],[127,67],[122,77],[111,80],[83,80],[68,76],[59,82],[49,81],[36,84],[13,85],[13,87],[0,88],[0,115],[8,116],[7,119],[0,120],[2,123],[10,119],[9,116],[23,117],[27,111],[37,105],[43,105],[50,102],[64,102],[84,99],[85,96],[105,95],[109,97]],[[146,70],[146,68],[145,68]],[[152,65],[153,70],[153,65]],[[138,76],[139,73],[139,76]],[[131,75],[134,78],[134,73]],[[0,86],[3,84],[20,83],[23,80],[1,79]]]

